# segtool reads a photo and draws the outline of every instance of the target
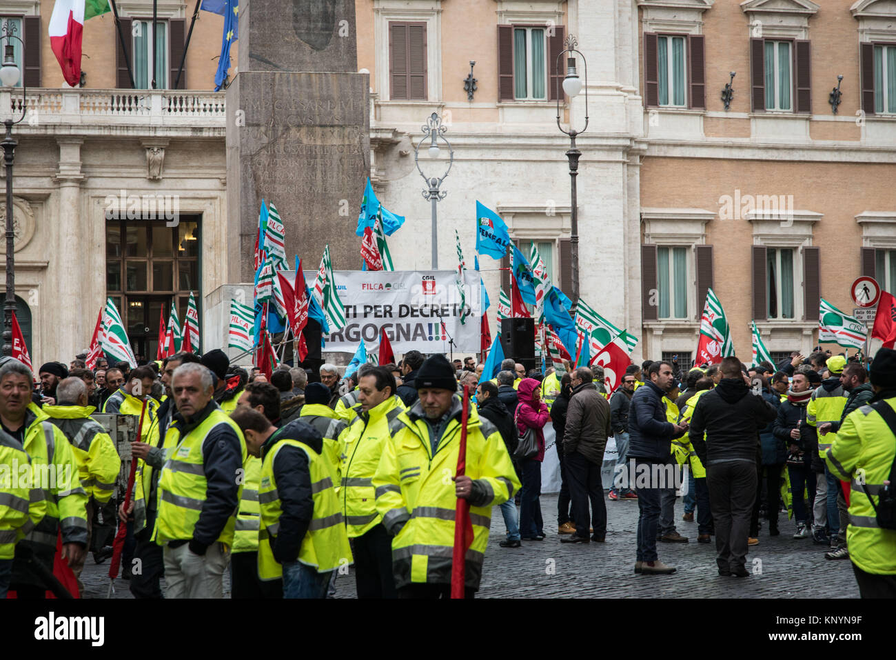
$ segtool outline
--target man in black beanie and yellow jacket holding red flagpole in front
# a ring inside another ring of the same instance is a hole
[[[462,400],[444,355],[427,358],[414,382],[418,399],[389,424],[392,438],[383,443],[373,479],[376,509],[394,537],[392,577],[400,598],[450,597],[454,520],[444,511],[453,512],[457,500],[466,499],[473,541],[466,553],[464,591],[471,598],[482,577],[492,507],[513,499],[520,482],[500,431],[472,405],[466,470],[457,476]],[[452,481],[444,478],[448,475]]]

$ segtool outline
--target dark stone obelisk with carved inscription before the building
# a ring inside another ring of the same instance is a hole
[[[258,211],[280,212],[286,254],[315,270],[360,264],[358,207],[370,164],[369,81],[358,74],[354,0],[240,5],[227,91],[228,281],[252,282]]]

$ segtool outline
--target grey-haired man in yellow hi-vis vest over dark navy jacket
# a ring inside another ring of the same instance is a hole
[[[221,598],[243,490],[246,441],[214,402],[201,364],[171,379],[177,413],[168,425],[152,540],[163,546],[168,598]]]

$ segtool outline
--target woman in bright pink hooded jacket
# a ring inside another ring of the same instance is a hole
[[[541,390],[535,378],[523,378],[517,389],[520,404],[516,407],[516,426],[520,438],[532,430],[538,440],[538,452],[520,462],[522,490],[520,491],[520,537],[523,541],[543,541],[544,523],[541,520],[541,462],[545,458],[545,424],[550,421],[547,404],[541,400]]]

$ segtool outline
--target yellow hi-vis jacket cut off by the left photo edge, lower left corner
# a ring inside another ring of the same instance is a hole
[[[43,489],[18,440],[0,431],[0,560],[15,556],[15,544],[47,513]]]

